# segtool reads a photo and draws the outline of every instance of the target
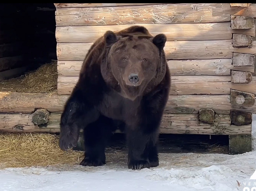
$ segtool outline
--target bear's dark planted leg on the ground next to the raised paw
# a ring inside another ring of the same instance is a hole
[[[84,128],[85,157],[80,165],[101,166],[106,164],[105,148],[114,130],[113,120],[103,115]]]

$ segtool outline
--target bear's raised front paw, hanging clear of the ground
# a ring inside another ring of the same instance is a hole
[[[59,147],[62,151],[67,151],[77,146],[79,135],[71,132],[60,134]]]

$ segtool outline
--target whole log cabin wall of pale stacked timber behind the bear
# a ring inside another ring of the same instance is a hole
[[[229,135],[231,153],[251,149],[252,113],[256,113],[255,4],[55,6],[58,92],[0,92],[0,112],[4,113],[0,120],[5,121],[1,131],[59,132],[60,113],[90,46],[106,30],[136,24],[147,27],[153,35],[167,36],[165,52],[172,85],[160,133]],[[33,122],[38,108],[49,112],[44,114],[48,118],[43,124]]]

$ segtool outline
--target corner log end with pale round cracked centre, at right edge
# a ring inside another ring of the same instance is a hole
[[[255,95],[238,90],[230,91],[231,106],[253,106],[255,103]]]

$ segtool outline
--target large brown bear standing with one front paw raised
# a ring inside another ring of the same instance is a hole
[[[84,166],[106,164],[116,129],[126,133],[128,168],[159,165],[159,127],[170,90],[166,36],[141,26],[106,31],[85,56],[79,81],[61,115],[59,146],[76,146],[83,129]]]

